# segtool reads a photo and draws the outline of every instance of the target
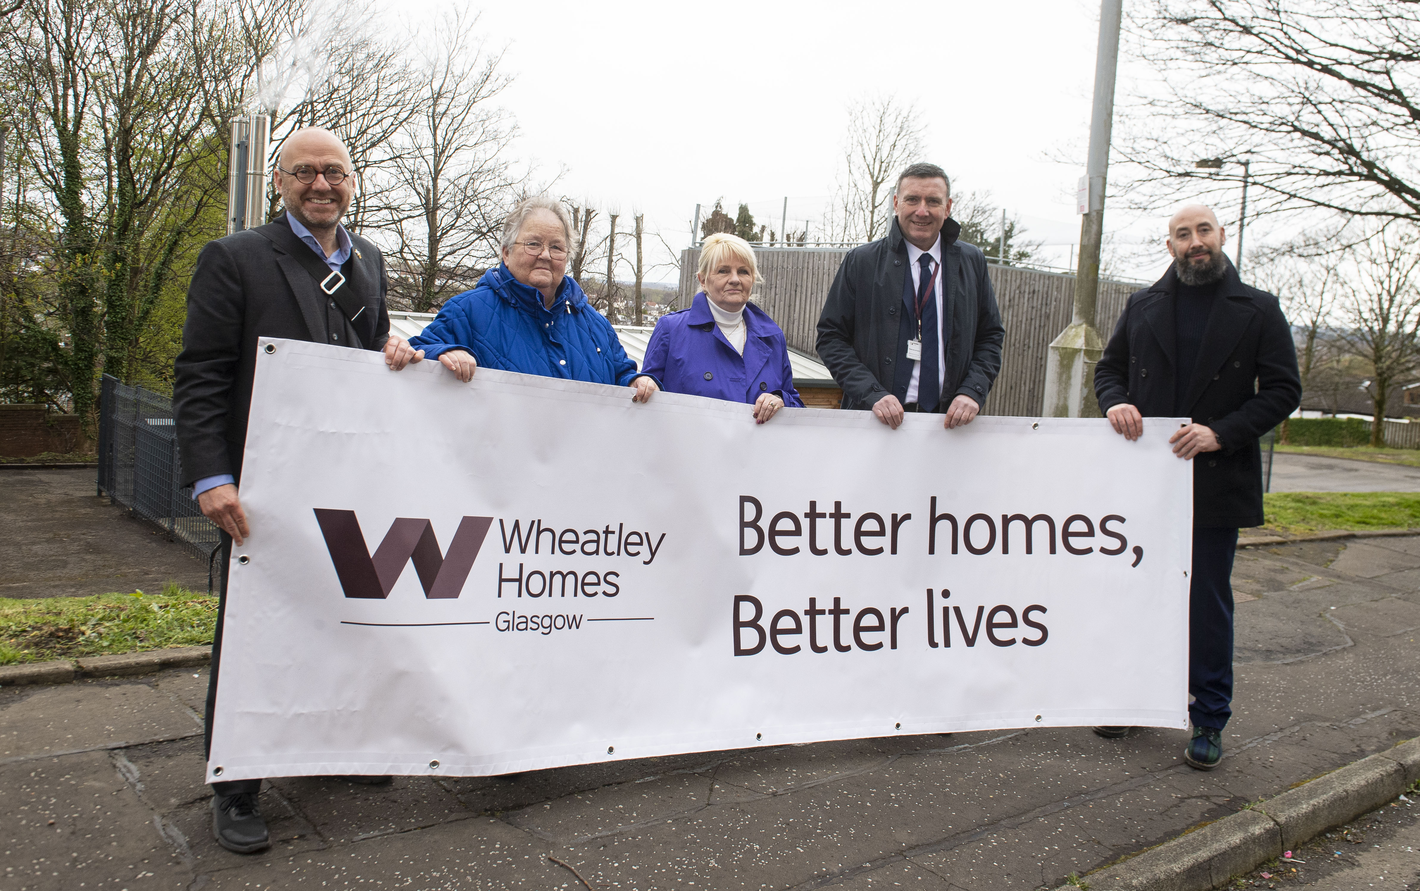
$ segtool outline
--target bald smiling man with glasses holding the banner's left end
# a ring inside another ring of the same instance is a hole
[[[385,260],[371,242],[341,226],[349,207],[349,152],[334,134],[291,134],[273,173],[285,212],[266,226],[209,242],[187,288],[183,350],[175,364],[173,414],[183,485],[222,527],[222,588],[207,682],[206,746],[222,655],[231,543],[248,536],[239,480],[247,436],[257,338],[284,337],[383,351],[399,371],[423,358],[389,334]],[[389,777],[346,777],[379,783]],[[213,783],[213,834],[227,850],[270,846],[257,807],[261,780]]]

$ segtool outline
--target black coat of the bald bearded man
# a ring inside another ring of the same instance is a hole
[[[1136,291],[1095,367],[1100,411],[1129,402],[1145,418],[1193,418],[1213,428],[1221,452],[1193,459],[1194,526],[1262,524],[1258,436],[1302,399],[1292,327],[1277,297],[1242,284],[1228,263],[1204,328],[1193,378],[1177,405],[1174,294],[1179,274]]]

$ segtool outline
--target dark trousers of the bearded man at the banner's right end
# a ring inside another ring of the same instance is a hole
[[[1221,730],[1233,716],[1233,557],[1238,530],[1193,530],[1189,585],[1189,719]]]

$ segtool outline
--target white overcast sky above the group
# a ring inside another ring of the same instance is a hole
[[[399,16],[447,3],[415,0]],[[480,9],[471,6],[470,9]],[[704,4],[540,0],[481,7],[490,47],[514,77],[501,104],[518,122],[520,156],[557,190],[640,209],[674,247],[696,203],[751,205],[780,229],[816,215],[834,190],[845,104],[890,94],[916,104],[927,161],[953,189],[990,189],[1025,237],[1059,266],[1079,237],[1093,90],[1098,3],[1015,0],[888,4],[723,0]],[[386,13],[389,14],[389,13]],[[1126,88],[1126,71],[1120,90]],[[1162,230],[1120,207],[1106,230]],[[709,212],[709,209],[706,210]],[[1152,280],[1159,261],[1116,267]],[[657,279],[669,277],[660,273]]]

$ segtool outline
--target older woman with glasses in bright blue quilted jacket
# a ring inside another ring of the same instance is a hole
[[[481,365],[548,378],[629,387],[645,402],[659,389],[636,374],[616,331],[567,271],[575,247],[567,209],[530,198],[503,220],[503,263],[452,297],[409,344],[460,381]]]

